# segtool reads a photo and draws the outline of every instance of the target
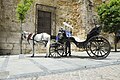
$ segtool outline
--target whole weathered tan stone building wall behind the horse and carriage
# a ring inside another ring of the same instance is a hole
[[[20,24],[16,18],[16,6],[20,0],[0,0],[0,54],[19,54]],[[94,3],[100,0],[35,0],[26,15],[23,30],[35,32],[36,4],[55,8],[52,26],[56,34],[63,22],[73,26],[73,35],[85,39],[86,34],[93,25],[92,15],[95,14]],[[27,42],[23,42],[23,53],[30,53],[31,48]],[[44,52],[43,46],[36,46],[38,52]],[[73,47],[75,48],[75,47]],[[42,49],[42,50],[41,50]]]

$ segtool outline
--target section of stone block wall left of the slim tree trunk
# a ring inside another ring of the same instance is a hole
[[[19,23],[15,16],[17,3],[17,0],[0,0],[0,54],[19,50]]]

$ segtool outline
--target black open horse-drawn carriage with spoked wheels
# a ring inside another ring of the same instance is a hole
[[[67,30],[60,29],[56,39],[57,41],[50,45],[50,57],[61,57],[66,55],[66,44],[73,42],[78,48],[84,48],[87,54],[93,59],[104,59],[111,51],[110,43],[107,39],[100,36],[100,27],[93,28],[89,34],[87,34],[87,39],[83,42],[79,42],[75,37],[71,36],[71,32]],[[70,45],[68,46],[70,49]]]

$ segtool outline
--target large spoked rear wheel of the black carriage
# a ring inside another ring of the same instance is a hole
[[[93,59],[104,59],[110,54],[111,46],[105,38],[95,36],[88,40],[86,51]]]

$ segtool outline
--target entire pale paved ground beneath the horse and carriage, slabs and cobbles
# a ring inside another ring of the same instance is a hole
[[[0,56],[0,80],[120,80],[120,52],[111,52],[103,60],[91,59],[86,52],[63,58],[44,56]]]

